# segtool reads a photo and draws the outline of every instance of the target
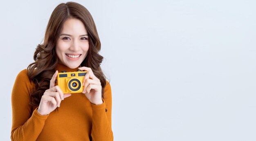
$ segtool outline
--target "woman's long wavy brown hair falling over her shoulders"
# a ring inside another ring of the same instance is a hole
[[[31,102],[33,106],[38,106],[45,90],[49,89],[50,80],[55,73],[55,68],[58,63],[58,57],[55,52],[56,41],[63,24],[70,18],[81,20],[88,32],[89,50],[88,55],[81,63],[81,66],[90,67],[94,75],[99,78],[102,87],[101,97],[104,98],[104,88],[106,86],[106,76],[103,74],[100,64],[103,61],[103,56],[99,54],[101,50],[101,42],[99,35],[90,12],[83,5],[76,2],[67,2],[59,4],[49,19],[44,42],[38,44],[34,52],[34,63],[27,67],[27,75],[29,80],[34,82],[32,90]]]

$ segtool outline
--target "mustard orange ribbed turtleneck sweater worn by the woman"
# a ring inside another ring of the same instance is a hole
[[[58,64],[58,72],[75,72]],[[34,83],[27,69],[22,70],[11,92],[12,141],[113,141],[111,128],[112,94],[106,81],[103,104],[92,104],[83,93],[72,93],[61,101],[57,110],[40,115],[38,106],[30,106]]]

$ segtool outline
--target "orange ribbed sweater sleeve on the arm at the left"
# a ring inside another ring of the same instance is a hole
[[[13,85],[11,92],[12,106],[12,141],[36,141],[49,115],[40,115],[37,108],[32,111],[29,105],[33,85],[29,82],[27,69],[22,70]]]

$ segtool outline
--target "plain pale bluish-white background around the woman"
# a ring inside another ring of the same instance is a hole
[[[1,2],[2,141],[14,80],[61,2]],[[115,141],[256,141],[255,0],[75,2],[101,39]]]

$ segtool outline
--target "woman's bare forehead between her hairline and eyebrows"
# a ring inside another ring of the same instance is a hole
[[[81,20],[78,19],[68,19],[64,22],[61,33],[70,35],[82,35],[87,34],[87,30]]]

